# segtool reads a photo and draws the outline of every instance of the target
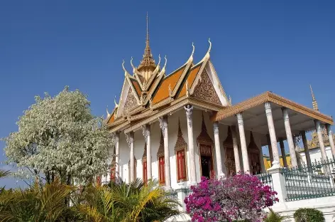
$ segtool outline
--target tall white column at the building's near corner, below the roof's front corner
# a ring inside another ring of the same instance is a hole
[[[197,174],[195,171],[195,154],[194,154],[194,138],[193,138],[193,122],[192,122],[192,105],[186,105],[185,107],[186,119],[187,119],[187,138],[188,138],[188,150],[190,157],[190,186],[197,185]]]

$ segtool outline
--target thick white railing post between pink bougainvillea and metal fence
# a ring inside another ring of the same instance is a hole
[[[271,174],[273,180],[273,190],[277,192],[279,202],[285,202],[287,199],[287,191],[285,188],[285,177],[281,167],[270,168],[268,173]]]

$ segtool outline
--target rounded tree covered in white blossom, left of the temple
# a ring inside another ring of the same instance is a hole
[[[86,184],[106,174],[109,148],[114,145],[104,121],[94,117],[90,102],[79,90],[66,87],[55,97],[35,97],[19,118],[18,132],[6,137],[9,164],[23,179],[47,183]]]

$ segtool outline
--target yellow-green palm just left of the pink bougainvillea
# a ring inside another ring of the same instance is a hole
[[[84,201],[77,209],[87,221],[165,221],[180,215],[180,211],[174,208],[178,201],[167,197],[156,180],[144,184],[141,179],[136,179],[126,184],[117,179],[109,186],[91,187],[86,191]]]

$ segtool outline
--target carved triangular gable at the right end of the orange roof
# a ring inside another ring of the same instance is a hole
[[[200,100],[214,103],[216,105],[221,105],[219,96],[216,94],[214,86],[212,84],[206,69],[202,71],[200,75],[200,82],[194,88],[192,97],[197,97]]]

